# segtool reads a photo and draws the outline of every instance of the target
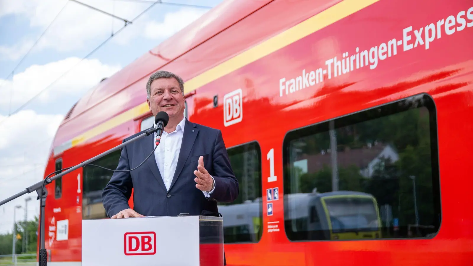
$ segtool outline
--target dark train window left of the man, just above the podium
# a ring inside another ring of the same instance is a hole
[[[99,165],[109,169],[116,169],[121,151],[114,151],[91,164]],[[104,205],[102,204],[102,191],[107,186],[114,172],[86,166],[83,168],[84,177],[82,181],[82,219],[102,219],[107,218]]]

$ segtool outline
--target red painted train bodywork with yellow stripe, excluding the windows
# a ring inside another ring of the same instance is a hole
[[[262,195],[271,187],[279,187],[280,195],[285,195],[283,143],[289,131],[426,93],[435,104],[438,154],[434,156],[440,178],[441,222],[434,237],[292,241],[284,226],[286,198],[273,201],[274,213],[267,215],[263,196],[261,239],[226,244],[227,263],[472,265],[473,181],[468,178],[473,148],[472,43],[469,0],[224,2],[81,98],[54,138],[44,176],[55,171],[58,158],[62,168],[70,167],[139,132],[142,118],[150,115],[143,105],[146,82],[158,69],[175,72],[186,81],[186,111],[192,122],[219,128],[227,147],[258,143]],[[368,65],[364,61],[361,67],[365,50]],[[343,64],[335,76],[337,61]],[[347,66],[349,71],[344,71]],[[302,87],[291,90],[289,81],[298,76]],[[242,120],[225,126],[224,95],[237,89],[241,89]],[[65,148],[55,153],[61,145]],[[270,151],[273,174],[267,160]],[[271,176],[276,181],[268,182]],[[62,177],[58,199],[54,182],[48,186],[46,248],[53,262],[81,260],[83,177],[83,169]],[[66,219],[68,239],[58,241],[56,221]],[[279,230],[269,231],[269,224],[278,224]]]

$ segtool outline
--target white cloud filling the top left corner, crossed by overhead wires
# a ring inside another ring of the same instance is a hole
[[[68,0],[0,1],[0,17],[8,14],[23,16],[29,20],[30,27],[35,27],[37,30],[35,35],[24,36],[20,44],[0,46],[0,58],[16,60],[24,55],[39,37],[39,34],[50,25],[66,2],[67,6],[36,44],[33,51],[53,48],[56,51],[65,52],[83,49],[88,45],[95,47],[109,37],[112,30],[116,32],[124,25],[123,20],[112,18]],[[81,0],[81,2],[127,20],[133,19],[149,6],[149,3],[110,0]],[[127,27],[133,27],[133,25]]]

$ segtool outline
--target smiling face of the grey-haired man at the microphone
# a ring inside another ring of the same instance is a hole
[[[154,116],[160,111],[165,111],[169,118],[184,115],[184,96],[175,78],[153,80],[147,102]]]

